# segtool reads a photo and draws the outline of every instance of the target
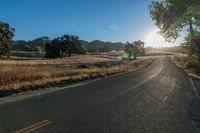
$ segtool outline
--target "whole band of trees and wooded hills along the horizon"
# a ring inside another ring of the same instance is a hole
[[[87,54],[98,52],[125,51],[124,57],[134,58],[145,55],[146,51],[165,51],[180,52],[178,47],[174,48],[144,48],[143,41],[134,42],[104,42],[100,40],[84,41],[78,36],[64,34],[63,36],[50,39],[49,37],[40,37],[34,40],[13,41],[15,30],[9,24],[0,22],[0,57],[10,57],[11,53],[21,54],[20,51],[28,51],[32,54],[44,55],[47,58],[70,57],[72,54]],[[11,52],[12,51],[12,52]]]

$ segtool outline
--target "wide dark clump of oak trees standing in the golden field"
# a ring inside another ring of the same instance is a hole
[[[83,46],[78,36],[63,35],[61,38],[53,39],[51,43],[47,43],[46,47],[47,58],[58,58],[64,55],[71,54],[86,54],[87,49]]]

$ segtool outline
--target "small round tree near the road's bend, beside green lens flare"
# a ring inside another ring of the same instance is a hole
[[[134,60],[139,55],[145,54],[144,42],[134,41],[133,43],[126,43],[125,51],[128,52],[129,57],[134,56]]]

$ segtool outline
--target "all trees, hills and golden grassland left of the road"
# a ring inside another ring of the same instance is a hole
[[[9,24],[1,22],[0,31],[0,97],[135,71],[156,58],[138,57],[145,54],[140,40],[88,43],[65,34],[12,41],[15,30]]]

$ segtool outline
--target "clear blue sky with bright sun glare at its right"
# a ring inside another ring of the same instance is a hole
[[[0,0],[0,21],[15,28],[14,40],[78,35],[86,41],[142,40],[146,46],[175,46],[158,35],[152,0]],[[148,43],[148,44],[147,44]]]

